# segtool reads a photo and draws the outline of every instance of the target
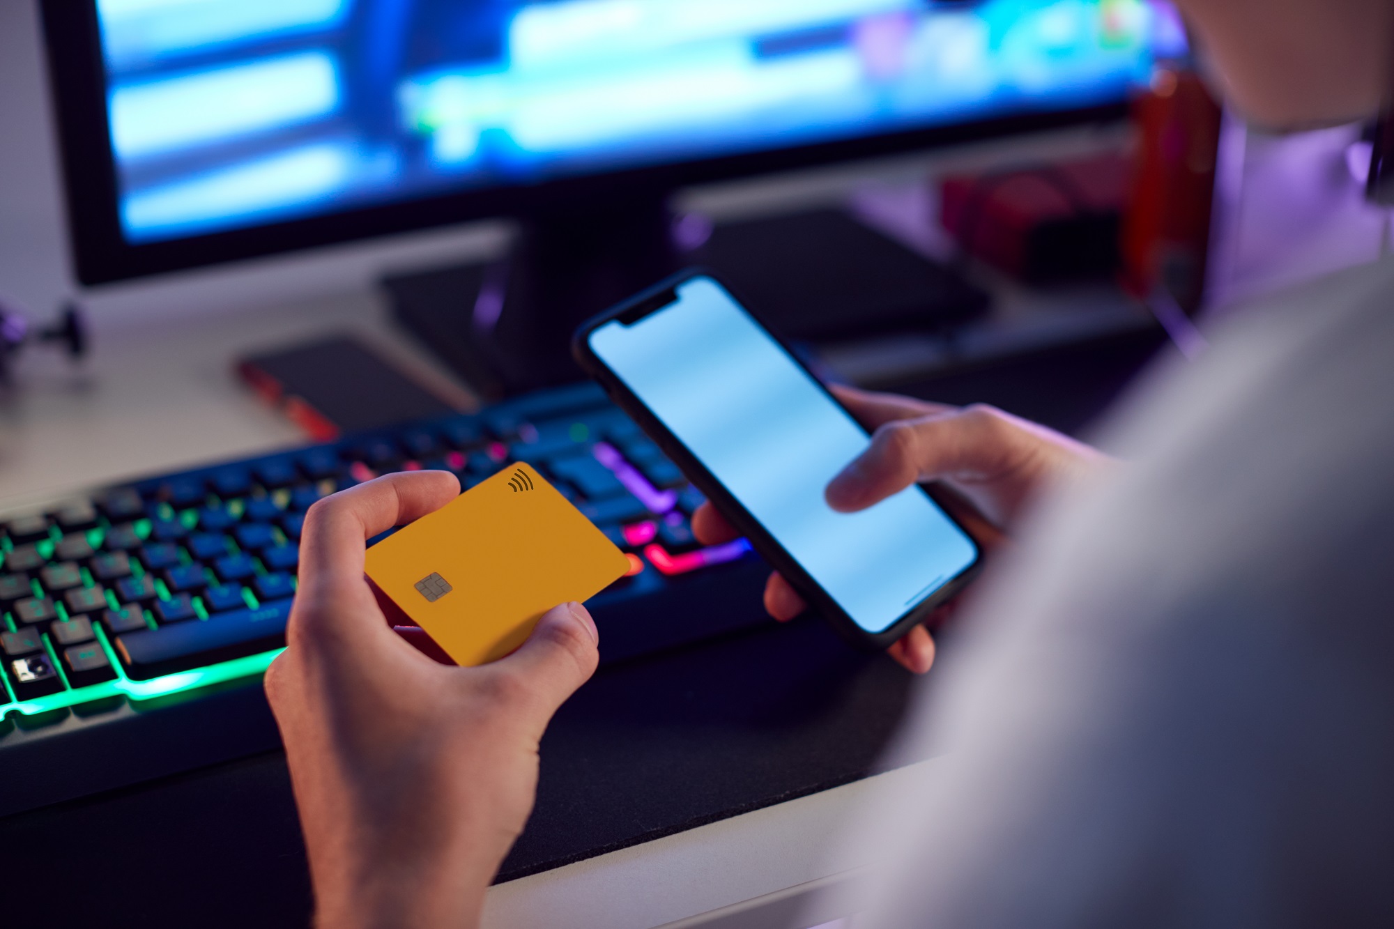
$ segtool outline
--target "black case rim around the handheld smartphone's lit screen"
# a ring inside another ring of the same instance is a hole
[[[715,476],[711,474],[711,471],[708,471],[701,464],[701,462],[698,462],[697,458],[687,451],[687,448],[677,439],[677,437],[673,435],[658,420],[658,417],[655,417],[652,413],[648,411],[648,407],[644,406],[644,403],[638,399],[638,396],[636,396],[627,386],[625,386],[625,382],[620,381],[605,365],[605,363],[595,356],[594,352],[591,352],[590,333],[594,332],[597,328],[611,322],[612,319],[619,319],[620,322],[631,324],[648,315],[650,312],[654,312],[655,310],[666,307],[668,304],[673,303],[677,299],[676,294],[677,285],[691,278],[711,278],[722,289],[730,293],[732,297],[736,300],[736,303],[739,303],[742,308],[744,308],[746,312],[749,312],[756,319],[756,322],[765,329],[765,332],[769,332],[769,335],[775,339],[775,342],[778,342],[781,347],[783,347],[785,352],[789,353],[789,357],[795,360],[795,364],[799,364],[799,367],[802,367],[804,371],[809,372],[809,377],[811,377],[820,386],[822,386],[822,382],[818,381],[818,378],[813,374],[813,371],[809,370],[806,364],[803,364],[802,360],[799,360],[799,356],[790,352],[789,347],[783,343],[783,340],[779,339],[778,335],[769,331],[769,326],[765,325],[764,319],[761,319],[756,311],[753,311],[749,305],[746,305],[746,303],[740,300],[740,296],[737,293],[735,293],[721,278],[701,268],[689,268],[686,271],[682,271],[673,275],[672,278],[668,278],[661,283],[650,287],[648,290],[644,290],[643,293],[631,297],[630,300],[626,300],[625,303],[612,307],[611,310],[606,310],[605,312],[584,322],[576,331],[576,336],[572,340],[572,353],[576,357],[577,364],[580,364],[587,374],[590,374],[601,384],[601,386],[611,396],[611,399],[615,400],[615,403],[620,409],[629,413],[629,416],[633,417],[636,423],[638,423],[640,428],[643,428],[644,432],[647,432],[648,437],[658,444],[658,446],[664,451],[665,455],[673,459],[673,462],[682,469],[683,474],[687,476],[687,478],[697,487],[697,490],[700,490],[703,494],[707,495],[710,501],[712,501],[717,509],[721,511],[722,516],[725,516],[737,530],[742,531],[742,534],[746,536],[746,538],[750,540],[751,547],[769,564],[769,566],[772,566],[775,571],[778,571],[781,575],[785,576],[785,579],[793,586],[795,590],[799,591],[799,594],[804,598],[806,603],[809,603],[810,607],[813,607],[824,618],[827,618],[832,624],[832,626],[852,643],[866,649],[887,647],[888,644],[903,636],[906,632],[909,632],[912,628],[923,622],[931,612],[934,612],[937,607],[940,607],[940,604],[952,598],[969,582],[972,582],[974,576],[977,576],[983,565],[981,545],[976,538],[973,538],[973,534],[969,533],[967,529],[965,529],[956,519],[953,519],[952,515],[944,511],[944,508],[940,506],[940,504],[934,501],[934,498],[924,488],[920,488],[920,492],[926,494],[926,497],[928,497],[930,501],[934,502],[934,505],[938,506],[940,511],[944,512],[944,515],[955,526],[958,526],[965,536],[969,537],[969,540],[972,540],[976,552],[973,562],[967,568],[965,568],[956,577],[953,577],[947,584],[940,587],[933,596],[930,596],[927,600],[916,605],[913,610],[903,614],[899,619],[892,622],[882,632],[867,632],[856,622],[853,622],[852,617],[849,617],[846,611],[842,610],[842,607],[839,607],[836,601],[832,600],[832,597],[828,596],[822,590],[822,587],[799,565],[799,562],[796,562],[789,555],[789,552],[783,550],[783,545],[775,541],[775,538],[765,531],[765,529],[754,519],[754,516],[750,515],[750,512],[740,504],[740,501],[737,501],[730,492],[728,492],[726,488],[721,484],[721,481],[718,481]],[[838,402],[838,398],[835,398],[825,386],[822,386],[822,391],[824,393],[827,393],[829,400],[842,407],[842,403]]]

